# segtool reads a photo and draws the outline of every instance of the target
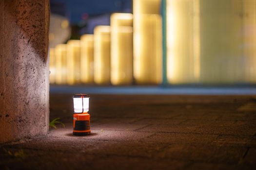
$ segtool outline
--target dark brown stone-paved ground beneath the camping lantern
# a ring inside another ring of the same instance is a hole
[[[256,170],[256,97],[91,95],[90,136],[72,135],[71,95],[50,95],[65,128],[0,145],[0,169]]]

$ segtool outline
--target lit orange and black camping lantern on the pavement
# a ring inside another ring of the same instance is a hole
[[[73,95],[74,115],[73,115],[73,135],[83,136],[89,135],[90,130],[90,115],[88,94]]]

